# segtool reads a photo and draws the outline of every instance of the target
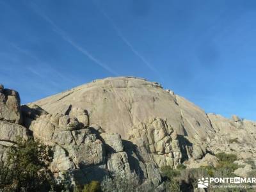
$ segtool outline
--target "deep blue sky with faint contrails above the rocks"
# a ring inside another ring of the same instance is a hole
[[[136,76],[256,120],[255,74],[253,0],[0,0],[0,83],[22,104]]]

